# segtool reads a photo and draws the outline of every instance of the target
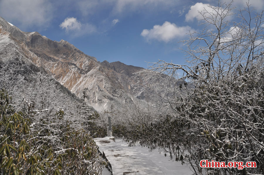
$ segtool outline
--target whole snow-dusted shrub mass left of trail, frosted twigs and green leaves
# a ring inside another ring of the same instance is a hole
[[[90,109],[54,79],[21,71],[19,60],[1,64],[1,174],[100,174],[105,162],[87,130]]]

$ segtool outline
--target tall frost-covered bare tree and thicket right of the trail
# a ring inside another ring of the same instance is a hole
[[[195,174],[264,174],[263,11],[248,4],[238,11],[237,22],[230,21],[234,11],[232,4],[220,3],[200,11],[204,30],[182,41],[187,64],[159,60],[148,70],[178,80],[177,88],[165,86],[170,94],[165,104],[174,113],[152,127],[174,130],[160,132],[152,144],[172,153],[187,150],[180,155]],[[204,171],[202,159],[254,161],[257,168]]]

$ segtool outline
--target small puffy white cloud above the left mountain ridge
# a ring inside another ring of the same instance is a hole
[[[65,29],[67,33],[72,32],[73,36],[82,36],[97,32],[97,28],[89,23],[82,24],[77,18],[68,17],[61,24],[60,27]]]

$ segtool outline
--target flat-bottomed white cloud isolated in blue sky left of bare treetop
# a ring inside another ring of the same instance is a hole
[[[165,21],[163,25],[154,25],[152,29],[144,29],[141,36],[147,40],[158,40],[169,42],[175,38],[182,38],[186,33],[192,30],[189,26],[179,27],[174,23]]]

